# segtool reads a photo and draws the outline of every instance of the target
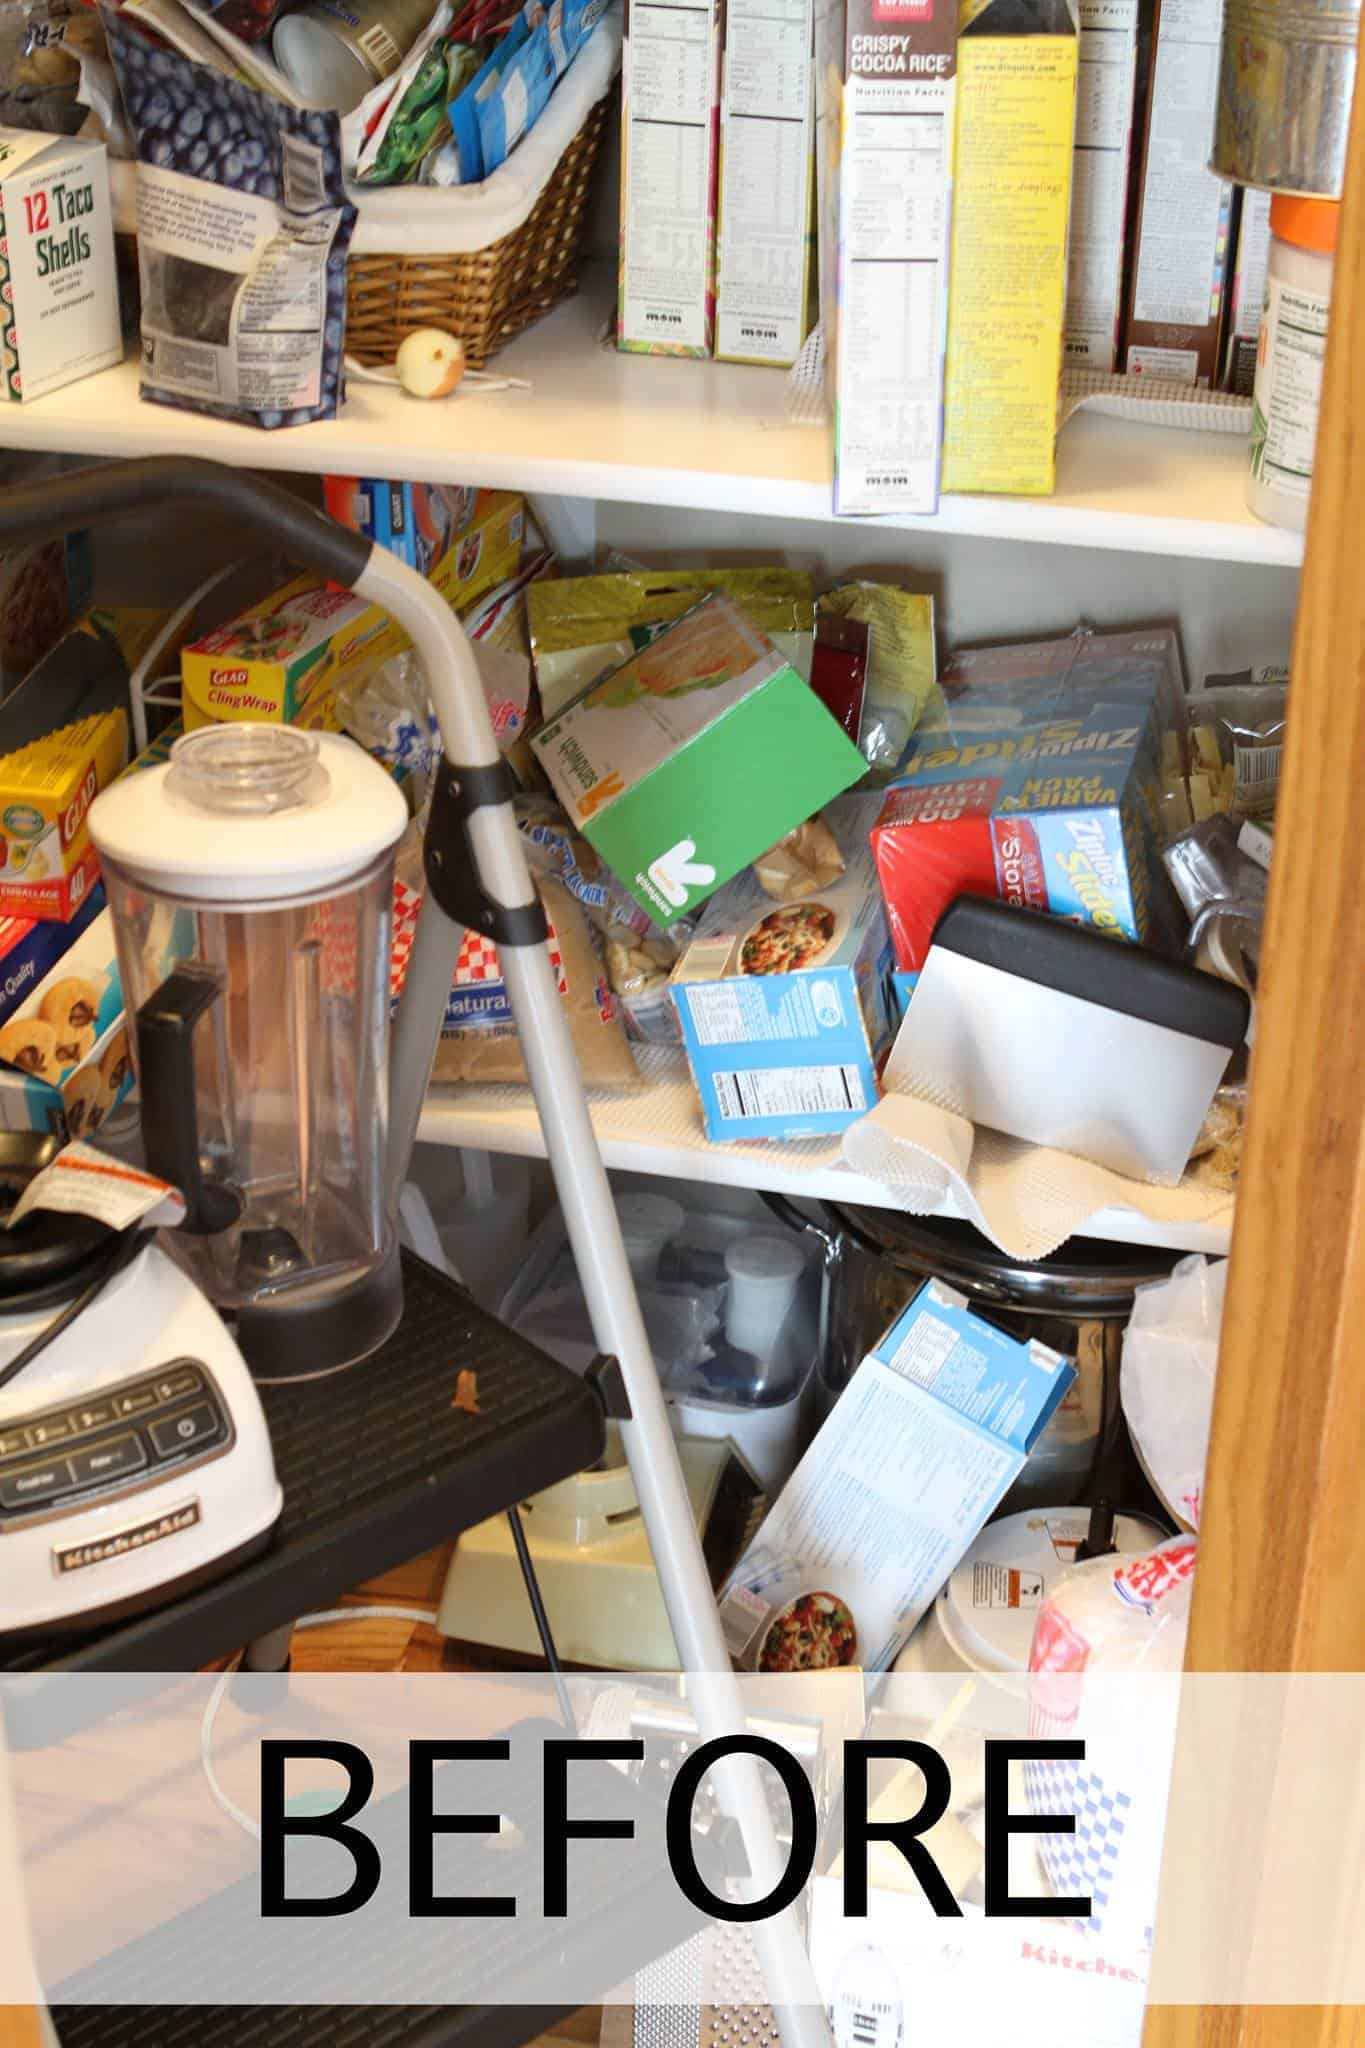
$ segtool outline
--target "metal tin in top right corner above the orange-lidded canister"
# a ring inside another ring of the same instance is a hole
[[[1212,168],[1340,199],[1361,0],[1226,0]]]

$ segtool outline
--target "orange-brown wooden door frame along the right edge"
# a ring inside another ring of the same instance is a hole
[[[1365,92],[1340,219],[1189,1671],[1365,1671]],[[1252,2044],[1357,2048],[1365,2009],[1144,2034]]]

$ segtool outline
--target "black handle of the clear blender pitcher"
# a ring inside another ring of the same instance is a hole
[[[217,975],[178,967],[137,1012],[137,1077],[147,1171],[184,1196],[190,1237],[227,1231],[241,1214],[233,1188],[205,1180],[194,1114],[194,1026],[223,993]]]

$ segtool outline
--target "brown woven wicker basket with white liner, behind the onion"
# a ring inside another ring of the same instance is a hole
[[[465,342],[471,369],[540,319],[577,287],[587,193],[610,94],[589,109],[551,180],[518,229],[465,256],[356,256],[346,299],[346,350],[393,362],[413,328],[444,328]]]

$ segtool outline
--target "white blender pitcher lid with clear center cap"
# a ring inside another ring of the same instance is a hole
[[[354,739],[254,721],[184,733],[170,762],[121,776],[90,805],[100,858],[213,903],[338,887],[405,825],[397,784]]]

